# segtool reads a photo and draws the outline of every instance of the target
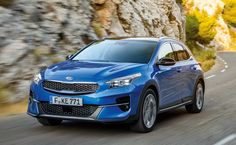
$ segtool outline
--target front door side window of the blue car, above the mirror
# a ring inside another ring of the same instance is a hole
[[[172,47],[169,43],[165,43],[161,45],[160,50],[158,52],[158,59],[162,58],[172,58],[175,59],[174,52],[172,50]]]

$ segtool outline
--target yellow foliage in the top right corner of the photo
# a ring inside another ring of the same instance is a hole
[[[236,0],[223,0],[225,3],[223,9],[223,18],[224,20],[236,27]]]

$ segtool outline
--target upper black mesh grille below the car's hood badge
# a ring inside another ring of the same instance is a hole
[[[96,92],[98,84],[43,81],[43,87],[46,90],[64,94],[87,94]]]

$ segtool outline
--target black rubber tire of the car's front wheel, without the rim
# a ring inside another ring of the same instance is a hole
[[[144,124],[144,115],[143,115],[143,109],[144,109],[144,102],[146,97],[151,94],[155,97],[155,103],[156,103],[156,116],[155,116],[155,120],[154,123],[151,127],[146,127],[146,125]],[[139,108],[139,117],[138,120],[136,120],[135,122],[133,122],[130,126],[130,129],[136,132],[141,132],[141,133],[147,133],[153,130],[155,123],[156,123],[156,118],[157,118],[157,114],[158,114],[158,102],[157,102],[157,95],[156,93],[152,90],[152,89],[148,89],[146,90],[146,92],[144,93],[144,95],[142,96],[141,102],[140,102],[140,108]]]

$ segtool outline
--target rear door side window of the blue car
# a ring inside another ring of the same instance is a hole
[[[172,45],[173,45],[174,51],[176,52],[178,61],[189,59],[189,54],[185,48],[183,48],[181,45],[176,44],[176,43],[173,43]]]

